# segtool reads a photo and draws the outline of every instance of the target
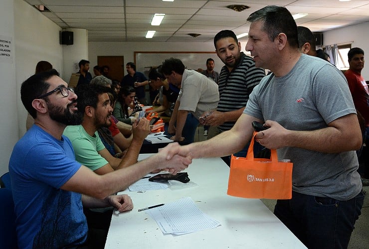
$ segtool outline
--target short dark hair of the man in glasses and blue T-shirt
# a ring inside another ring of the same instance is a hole
[[[20,99],[22,100],[23,106],[34,119],[37,116],[37,112],[32,107],[32,101],[47,92],[47,89],[50,87],[47,81],[52,76],[59,76],[59,73],[55,69],[51,69],[34,74],[26,79],[20,87]]]

